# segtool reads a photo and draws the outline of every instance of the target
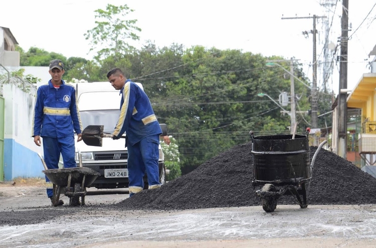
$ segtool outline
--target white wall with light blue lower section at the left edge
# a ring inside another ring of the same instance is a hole
[[[37,152],[42,147],[34,143],[31,127],[35,93],[24,92],[17,84],[3,85],[5,97],[4,177],[44,177]]]

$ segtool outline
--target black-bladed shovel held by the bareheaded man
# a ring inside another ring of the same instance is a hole
[[[161,136],[167,135],[167,125],[166,124],[159,124],[160,128],[162,129]],[[88,125],[82,132],[82,140],[85,144],[91,146],[102,146],[102,138],[109,137],[112,138],[112,134],[104,134],[103,133],[104,125]],[[121,136],[121,138],[125,138],[126,136]]]

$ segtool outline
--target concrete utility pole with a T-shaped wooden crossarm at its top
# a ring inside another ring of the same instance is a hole
[[[317,128],[317,59],[316,59],[316,19],[317,18],[326,18],[326,16],[304,16],[304,17],[282,17],[282,19],[307,19],[313,18],[313,29],[311,30],[313,34],[313,59],[312,59],[312,67],[313,67],[313,74],[312,74],[312,90],[311,90],[311,122],[312,128]],[[307,32],[303,32],[307,33]]]

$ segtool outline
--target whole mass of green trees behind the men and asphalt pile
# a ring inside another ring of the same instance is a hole
[[[119,67],[127,78],[141,82],[158,120],[167,124],[178,147],[178,161],[166,155],[172,171],[179,174],[175,167],[180,164],[181,173],[188,173],[220,152],[249,142],[250,130],[256,136],[290,133],[290,116],[269,98],[258,96],[263,92],[278,101],[282,91],[290,92],[290,75],[279,66],[266,66],[267,60],[283,57],[175,43],[157,47],[151,41],[135,49],[127,40],[137,40],[135,31],[141,29],[135,26],[137,20],[126,20],[132,11],[126,4],[97,9],[96,17],[103,20],[96,21],[97,26],[85,37],[91,39],[91,49],[99,49],[98,55],[93,60],[59,58],[69,65],[64,75],[68,80],[106,81],[106,73]],[[40,54],[40,59],[25,56],[25,61],[46,65],[57,55],[45,53],[43,49],[29,50],[26,54]],[[288,69],[289,62],[281,62],[281,66]],[[299,64],[294,65],[294,74],[310,84]],[[311,107],[311,92],[298,81],[294,85],[296,110],[300,111],[297,133],[304,133],[310,125],[310,116],[304,112]],[[320,95],[318,114],[331,105],[330,94]],[[285,109],[290,110],[290,105]],[[330,126],[331,120],[319,120],[319,124]]]

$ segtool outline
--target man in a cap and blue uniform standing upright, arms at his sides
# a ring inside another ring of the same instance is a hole
[[[59,168],[60,154],[64,167],[76,167],[74,131],[81,141],[82,125],[76,101],[76,89],[62,80],[64,64],[60,59],[50,62],[51,79],[37,90],[32,136],[36,145],[41,146],[43,138],[44,160],[49,169]],[[46,182],[50,180],[46,176]],[[52,187],[47,196],[53,196]],[[59,200],[58,205],[64,202]]]

